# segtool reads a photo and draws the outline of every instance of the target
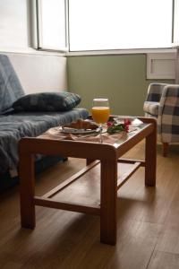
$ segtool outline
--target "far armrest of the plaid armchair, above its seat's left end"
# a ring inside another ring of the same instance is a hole
[[[166,86],[166,83],[150,83],[147,94],[147,101],[159,102]]]

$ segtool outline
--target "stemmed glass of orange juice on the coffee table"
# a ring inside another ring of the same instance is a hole
[[[110,114],[108,99],[95,98],[92,101],[91,114],[93,120],[98,123],[100,129],[100,142],[102,143],[103,124],[107,123]]]

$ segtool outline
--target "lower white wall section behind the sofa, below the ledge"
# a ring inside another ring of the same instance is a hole
[[[67,89],[66,57],[5,53],[26,93]]]

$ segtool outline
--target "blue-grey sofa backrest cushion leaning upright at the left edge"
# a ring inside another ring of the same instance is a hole
[[[13,102],[24,94],[9,58],[0,55],[0,114],[12,108]]]

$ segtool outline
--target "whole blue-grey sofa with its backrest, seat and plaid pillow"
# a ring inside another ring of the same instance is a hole
[[[25,94],[10,59],[0,55],[0,190],[18,182],[20,139],[87,118],[88,110],[76,107],[80,101],[69,91]],[[37,156],[36,170],[63,160],[63,156]]]

